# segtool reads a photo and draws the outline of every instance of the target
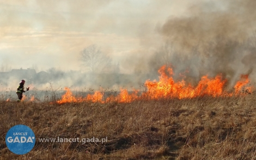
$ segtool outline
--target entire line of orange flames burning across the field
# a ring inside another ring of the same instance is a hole
[[[191,99],[200,96],[211,96],[211,97],[228,97],[233,95],[242,94],[242,88],[251,93],[252,87],[246,87],[249,83],[248,75],[242,75],[241,81],[235,84],[235,91],[230,93],[225,91],[225,83],[227,79],[223,79],[222,75],[217,75],[214,78],[209,78],[207,75],[203,76],[198,84],[193,87],[191,84],[186,84],[184,80],[175,82],[172,75],[173,70],[165,65],[159,69],[159,81],[149,81],[145,82],[145,87],[147,91],[138,95],[138,90],[133,90],[129,94],[127,89],[120,89],[120,93],[117,96],[109,96],[106,101],[103,101],[103,93],[100,91],[95,91],[93,95],[87,95],[87,97],[78,97],[72,95],[70,89],[65,88],[66,93],[62,96],[62,100],[57,101],[57,103],[68,103],[68,102],[119,102],[119,103],[130,103],[135,100],[149,99],[149,100],[159,100],[159,99]],[[182,77],[185,77],[182,75]]]

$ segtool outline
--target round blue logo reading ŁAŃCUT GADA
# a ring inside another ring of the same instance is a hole
[[[35,134],[28,126],[16,125],[7,132],[5,143],[11,152],[24,155],[33,149]]]

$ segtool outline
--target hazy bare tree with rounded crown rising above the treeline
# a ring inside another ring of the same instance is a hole
[[[90,45],[81,52],[81,60],[90,72],[107,71],[111,66],[111,58],[103,53],[96,45]]]

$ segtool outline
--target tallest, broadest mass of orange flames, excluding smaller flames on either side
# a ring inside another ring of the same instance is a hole
[[[215,78],[208,78],[208,76],[203,76],[196,87],[192,87],[191,84],[185,85],[185,81],[174,82],[172,77],[166,75],[164,70],[166,66],[162,66],[159,70],[161,76],[160,81],[149,81],[145,82],[148,88],[147,93],[144,95],[150,96],[151,99],[159,98],[193,98],[198,96],[220,96],[225,95],[223,92],[223,87],[227,79],[222,80],[221,75],[217,75]],[[172,70],[167,69],[169,75],[171,76]]]

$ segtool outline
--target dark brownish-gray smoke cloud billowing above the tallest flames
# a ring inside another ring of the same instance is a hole
[[[220,7],[222,6],[222,7]],[[224,7],[223,7],[224,6]],[[155,72],[172,65],[175,77],[188,70],[187,80],[222,73],[231,79],[241,74],[254,78],[256,60],[256,2],[225,1],[194,4],[183,17],[170,17],[157,31],[165,43],[149,61]]]

